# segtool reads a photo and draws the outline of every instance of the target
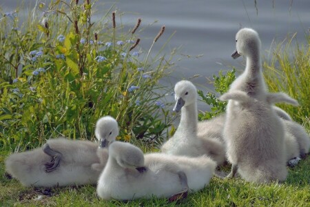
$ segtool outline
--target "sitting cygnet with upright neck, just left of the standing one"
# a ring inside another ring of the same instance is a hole
[[[178,129],[168,141],[163,144],[161,151],[170,155],[186,155],[197,157],[208,155],[218,165],[225,161],[225,145],[218,135],[213,137],[197,136],[197,90],[190,81],[179,81],[174,87],[176,106],[174,111],[181,110]]]

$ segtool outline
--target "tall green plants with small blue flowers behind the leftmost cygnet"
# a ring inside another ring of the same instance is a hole
[[[1,13],[0,148],[34,148],[60,135],[94,139],[105,115],[118,121],[120,139],[165,136],[172,120],[163,101],[172,88],[158,80],[172,57],[151,60],[135,32],[118,34],[110,11],[92,21],[93,7],[39,4],[21,28],[18,12]]]

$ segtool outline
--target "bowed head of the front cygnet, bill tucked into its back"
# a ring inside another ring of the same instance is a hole
[[[110,144],[109,156],[114,157],[122,168],[139,168],[144,166],[142,150],[127,142],[114,141]]]

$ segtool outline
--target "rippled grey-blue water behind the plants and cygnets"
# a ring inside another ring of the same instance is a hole
[[[1,0],[0,5],[4,11],[9,12],[14,10],[19,2]],[[35,1],[25,2],[32,2],[34,5]],[[290,4],[289,0],[274,0],[273,3],[267,0],[258,1],[258,13],[254,0],[99,1],[96,3],[96,10],[106,11],[115,4],[116,10],[125,12],[123,23],[131,27],[136,23],[136,19],[141,17],[141,26],[145,26],[145,29],[139,36],[145,50],[149,48],[161,26],[165,25],[165,33],[154,47],[154,54],[176,31],[165,52],[169,53],[172,48],[182,46],[180,52],[192,58],[176,61],[172,83],[200,74],[202,77],[192,81],[197,85],[207,86],[205,77],[211,77],[219,70],[229,69],[227,66],[242,68],[241,59],[231,59],[235,48],[235,34],[240,26],[258,31],[263,50],[269,50],[274,40],[280,42],[287,34],[294,32],[298,32],[298,41],[305,41],[304,35],[310,28],[310,1],[296,0]],[[96,17],[100,17],[98,11]],[[147,24],[154,21],[158,22],[147,27]],[[200,55],[203,57],[196,58]]]

